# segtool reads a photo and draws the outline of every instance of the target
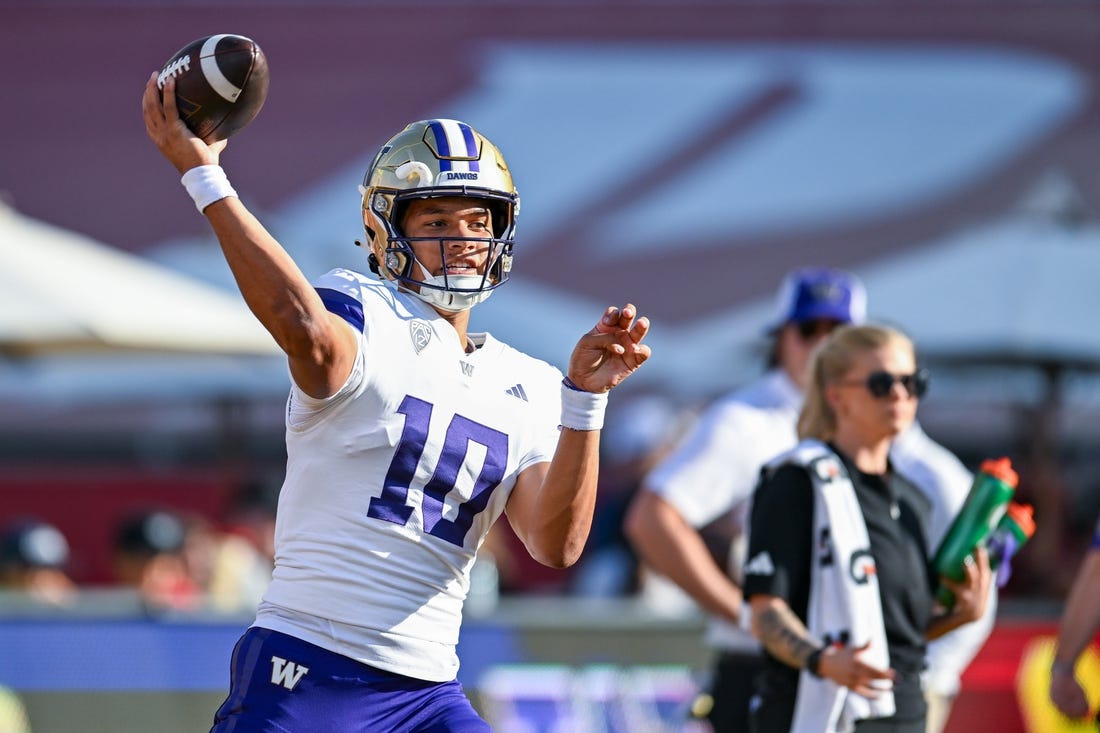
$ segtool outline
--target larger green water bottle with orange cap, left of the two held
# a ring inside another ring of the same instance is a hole
[[[938,576],[960,582],[966,579],[966,558],[987,541],[1004,517],[1019,482],[1008,458],[982,461],[963,508],[933,556],[932,567]],[[939,586],[936,600],[949,610],[955,605],[955,593]]]

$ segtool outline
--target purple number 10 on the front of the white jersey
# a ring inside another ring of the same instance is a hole
[[[416,474],[416,467],[424,455],[428,441],[428,424],[431,422],[431,403],[406,395],[397,412],[405,415],[405,427],[397,444],[397,451],[386,471],[382,495],[371,500],[366,515],[404,526],[413,516],[413,507],[406,503],[409,485]],[[470,499],[459,505],[453,519],[443,518],[443,501],[454,491],[454,482],[466,460],[470,444],[485,447],[485,461],[474,482]],[[431,479],[424,486],[424,528],[429,535],[462,546],[466,533],[473,525],[474,515],[485,511],[493,490],[504,478],[508,462],[508,436],[499,430],[455,415],[447,427],[443,450]]]

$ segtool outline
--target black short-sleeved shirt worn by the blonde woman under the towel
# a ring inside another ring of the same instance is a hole
[[[895,718],[923,719],[924,697],[920,672],[924,667],[925,630],[932,617],[934,576],[928,562],[927,524],[931,504],[921,491],[893,471],[886,475],[859,471],[842,459],[862,510],[871,555],[878,568],[882,622],[894,682]],[[767,551],[774,566],[772,576],[749,575],[745,598],[776,595],[806,623],[810,601],[813,544],[814,490],[810,474],[800,466],[783,466],[757,488],[752,499],[749,561]],[[767,656],[759,691],[767,719],[788,721],[794,712],[799,669]],[[787,730],[777,727],[777,730]]]

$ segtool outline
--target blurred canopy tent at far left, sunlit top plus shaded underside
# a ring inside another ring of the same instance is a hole
[[[228,433],[288,384],[240,295],[0,205],[0,428]]]

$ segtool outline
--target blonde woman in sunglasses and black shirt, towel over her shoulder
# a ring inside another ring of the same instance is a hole
[[[928,500],[889,460],[928,376],[913,344],[847,326],[811,360],[799,446],[754,496],[745,595],[766,649],[756,733],[924,733],[925,644],[981,616],[985,551],[934,608]]]

